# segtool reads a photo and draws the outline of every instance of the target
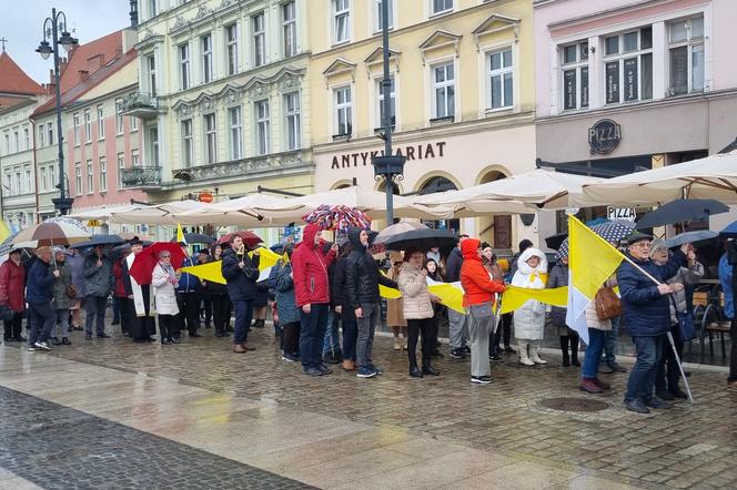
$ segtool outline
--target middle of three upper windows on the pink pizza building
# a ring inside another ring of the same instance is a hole
[[[607,104],[653,99],[653,28],[604,40],[604,88]]]

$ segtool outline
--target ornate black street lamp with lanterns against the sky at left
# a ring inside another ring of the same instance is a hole
[[[59,33],[61,32],[61,35]],[[49,43],[51,38],[51,43]],[[69,33],[67,30],[67,14],[57,9],[51,9],[51,17],[43,21],[43,37],[41,43],[36,49],[36,52],[41,54],[41,58],[48,60],[53,54],[53,76],[55,89],[55,109],[57,109],[57,134],[59,140],[59,197],[51,200],[59,214],[64,215],[72,208],[73,197],[67,196],[67,186],[64,185],[64,137],[61,127],[61,83],[59,74],[59,45],[69,52],[79,41]]]

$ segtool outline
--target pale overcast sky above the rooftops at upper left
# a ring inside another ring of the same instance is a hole
[[[51,57],[41,59],[34,50],[41,42],[43,21],[55,8],[67,14],[70,31],[80,43],[130,25],[129,0],[6,0],[0,13],[0,38],[6,51],[39,83],[49,82]],[[63,49],[62,49],[63,51]]]

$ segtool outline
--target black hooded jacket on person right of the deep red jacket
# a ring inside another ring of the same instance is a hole
[[[378,285],[396,288],[394,280],[378,272],[376,261],[361,244],[361,228],[349,229],[353,252],[345,264],[345,295],[352,308],[378,303]]]

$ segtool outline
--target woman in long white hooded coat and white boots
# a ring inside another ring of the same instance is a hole
[[[545,289],[546,276],[545,254],[537,248],[529,247],[517,259],[517,272],[512,278],[512,285],[529,289]],[[514,336],[519,345],[519,363],[525,366],[547,364],[539,357],[544,334],[545,305],[538,300],[528,299],[514,312]]]

